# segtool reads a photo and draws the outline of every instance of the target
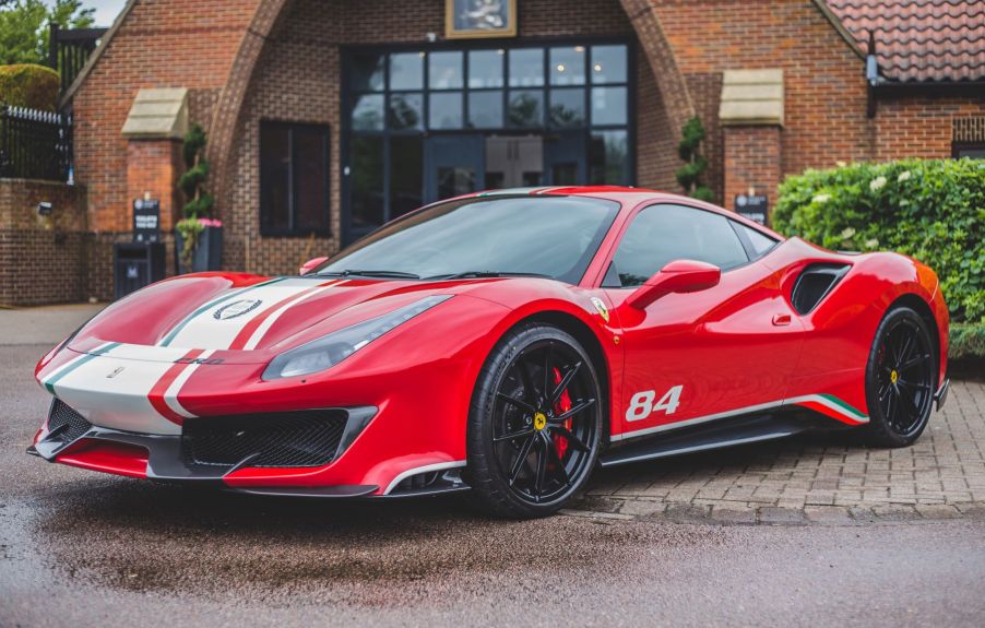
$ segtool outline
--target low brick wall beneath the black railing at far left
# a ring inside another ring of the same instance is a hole
[[[50,216],[37,205],[51,203]],[[86,294],[85,190],[0,179],[0,304],[71,303]]]

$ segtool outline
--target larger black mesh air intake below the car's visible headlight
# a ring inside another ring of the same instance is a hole
[[[347,418],[335,410],[190,418],[181,448],[194,464],[322,466],[335,458]]]

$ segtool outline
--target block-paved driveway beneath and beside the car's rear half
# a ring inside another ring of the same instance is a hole
[[[566,512],[772,524],[985,517],[985,383],[952,382],[910,448],[816,435],[641,462],[598,473]]]

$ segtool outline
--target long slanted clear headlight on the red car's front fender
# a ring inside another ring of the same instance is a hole
[[[324,337],[284,352],[271,360],[270,366],[263,371],[263,379],[297,377],[335,366],[396,325],[407,322],[451,297],[452,295],[426,297],[392,312],[341,329]]]

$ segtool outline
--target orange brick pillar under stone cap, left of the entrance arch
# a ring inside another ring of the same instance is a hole
[[[161,201],[161,232],[169,233],[181,217],[182,199],[178,177],[183,171],[181,141],[130,139],[127,141],[127,199],[133,202],[149,193]],[[131,205],[132,206],[132,205]],[[127,212],[130,215],[130,212]],[[130,225],[127,225],[129,230]]]

